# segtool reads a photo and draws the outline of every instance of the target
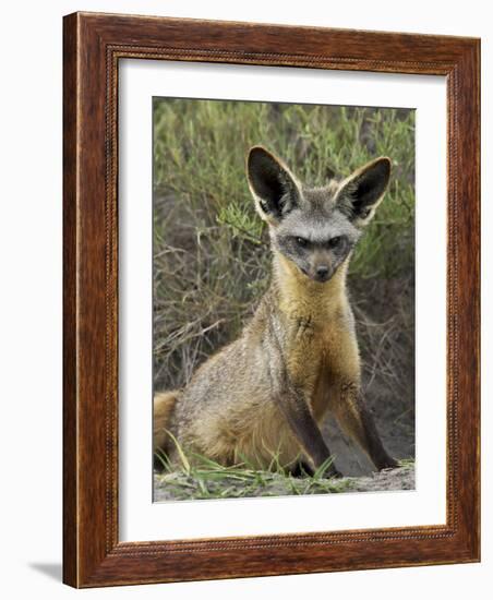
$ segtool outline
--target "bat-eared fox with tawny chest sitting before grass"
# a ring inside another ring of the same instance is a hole
[[[320,425],[327,412],[377,469],[396,467],[361,395],[354,319],[346,290],[351,253],[382,202],[390,160],[308,188],[262,146],[246,175],[273,252],[269,289],[240,337],[213,355],[183,389],[154,398],[154,448],[171,464],[179,446],[228,466],[291,472],[328,465]]]

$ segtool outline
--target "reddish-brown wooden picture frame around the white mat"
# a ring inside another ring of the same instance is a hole
[[[63,25],[64,583],[479,561],[480,41],[97,13],[71,14]],[[446,76],[446,525],[119,541],[117,103],[123,58]]]

